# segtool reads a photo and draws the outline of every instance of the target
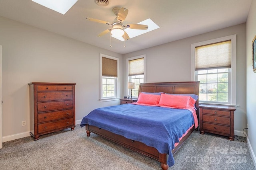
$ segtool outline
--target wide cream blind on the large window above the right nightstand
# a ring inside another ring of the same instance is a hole
[[[196,47],[196,70],[231,68],[231,40]]]

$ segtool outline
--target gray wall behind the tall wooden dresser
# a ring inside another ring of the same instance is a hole
[[[92,109],[120,104],[120,100],[99,101],[100,53],[118,57],[122,63],[118,53],[3,17],[0,45],[3,137],[29,134],[29,82],[76,83],[76,120]],[[22,127],[22,121],[27,125]]]

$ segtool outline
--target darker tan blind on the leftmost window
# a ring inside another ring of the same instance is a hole
[[[117,77],[117,61],[102,57],[102,76]]]

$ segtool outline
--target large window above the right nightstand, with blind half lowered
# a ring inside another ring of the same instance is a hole
[[[199,102],[236,105],[236,35],[192,44],[192,80]]]

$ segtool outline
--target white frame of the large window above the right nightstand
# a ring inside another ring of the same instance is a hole
[[[230,72],[230,103],[223,104],[222,102],[200,102],[200,104],[218,104],[218,105],[228,105],[228,106],[237,106],[236,105],[236,34],[229,35],[226,37],[220,37],[216,39],[211,39],[207,41],[202,41],[199,43],[194,43],[191,45],[191,80],[196,80],[196,47],[202,46],[202,45],[208,45],[212,43],[218,43],[222,41],[227,41],[231,39],[231,72]]]

